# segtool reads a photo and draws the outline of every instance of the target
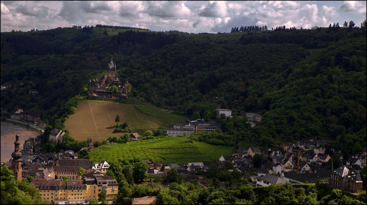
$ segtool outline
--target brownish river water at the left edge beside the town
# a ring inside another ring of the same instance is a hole
[[[1,122],[1,162],[9,162],[11,153],[14,152],[15,135],[19,136],[20,148],[23,147],[24,141],[29,137],[37,137],[39,133],[34,132],[23,126],[14,125],[8,122]]]

